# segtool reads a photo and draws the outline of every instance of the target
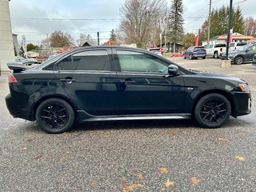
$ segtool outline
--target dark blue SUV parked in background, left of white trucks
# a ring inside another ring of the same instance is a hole
[[[183,58],[206,58],[206,49],[204,46],[190,46],[186,51],[183,53]]]

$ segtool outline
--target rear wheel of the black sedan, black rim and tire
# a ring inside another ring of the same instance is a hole
[[[38,126],[50,134],[61,134],[74,125],[72,106],[59,98],[50,98],[39,104],[36,110]]]

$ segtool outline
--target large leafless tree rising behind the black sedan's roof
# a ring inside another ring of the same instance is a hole
[[[156,23],[164,7],[165,0],[126,0],[120,9],[120,29],[125,34],[126,43],[136,43],[142,47],[154,38]]]

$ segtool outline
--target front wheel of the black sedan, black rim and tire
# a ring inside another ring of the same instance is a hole
[[[229,100],[222,94],[206,94],[194,108],[194,118],[205,128],[218,128],[230,118]]]

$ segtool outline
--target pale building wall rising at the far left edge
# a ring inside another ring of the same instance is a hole
[[[14,61],[14,40],[10,25],[8,0],[0,0],[0,69],[9,70],[7,62]]]

